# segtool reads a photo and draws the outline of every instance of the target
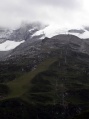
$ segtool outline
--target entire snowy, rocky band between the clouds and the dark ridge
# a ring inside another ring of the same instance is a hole
[[[42,23],[22,23],[15,29],[0,27],[0,51],[10,51],[20,44],[42,40],[45,37],[52,38],[60,34],[70,34],[81,39],[89,38],[88,27],[80,29],[66,29],[55,25]]]

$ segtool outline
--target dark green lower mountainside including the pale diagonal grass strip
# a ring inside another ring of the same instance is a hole
[[[16,67],[15,80],[3,79],[0,85],[1,118],[88,119],[89,56],[73,51],[67,51],[68,54],[65,50],[57,52],[58,56],[47,58],[23,76],[21,70],[18,75],[20,68]]]

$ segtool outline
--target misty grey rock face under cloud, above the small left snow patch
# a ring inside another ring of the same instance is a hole
[[[44,28],[44,25],[40,23],[22,23],[15,29],[0,28],[0,39],[8,39],[14,41],[27,40],[36,31]]]

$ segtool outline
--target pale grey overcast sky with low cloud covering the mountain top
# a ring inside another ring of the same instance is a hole
[[[22,21],[89,26],[89,0],[0,0],[0,26],[15,27]]]

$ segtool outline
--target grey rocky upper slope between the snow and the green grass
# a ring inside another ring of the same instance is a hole
[[[58,35],[53,38],[38,39],[34,42],[27,41],[14,50],[5,52],[5,55],[1,52],[3,57],[0,58],[0,66],[2,67],[0,70],[2,74],[0,81],[7,80],[4,74],[9,76],[10,80],[15,79],[18,76],[16,75],[17,72],[17,74],[22,74],[31,71],[43,60],[56,57],[64,49],[77,52],[78,54],[82,53],[86,59],[86,56],[89,54],[89,41],[73,35]],[[65,52],[68,55],[67,51]]]

